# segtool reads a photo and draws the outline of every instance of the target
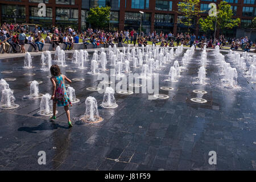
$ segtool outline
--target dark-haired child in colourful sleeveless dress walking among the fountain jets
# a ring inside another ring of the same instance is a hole
[[[66,111],[68,117],[68,126],[72,127],[69,112],[69,106],[72,106],[72,104],[65,89],[65,80],[67,80],[69,83],[72,81],[69,80],[69,78],[67,78],[65,75],[61,75],[60,68],[57,64],[53,64],[50,70],[52,75],[50,79],[53,86],[51,97],[51,100],[53,100],[53,116],[51,119],[56,119],[56,104],[58,106],[64,106],[64,110]]]

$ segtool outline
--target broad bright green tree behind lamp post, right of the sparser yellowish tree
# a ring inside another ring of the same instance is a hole
[[[237,27],[240,24],[240,18],[233,19],[232,16],[234,15],[232,12],[231,6],[222,1],[218,5],[218,13],[217,13],[217,30],[225,30],[233,27]],[[213,31],[216,23],[215,16],[207,16],[207,18],[199,19],[200,29],[204,32]]]

